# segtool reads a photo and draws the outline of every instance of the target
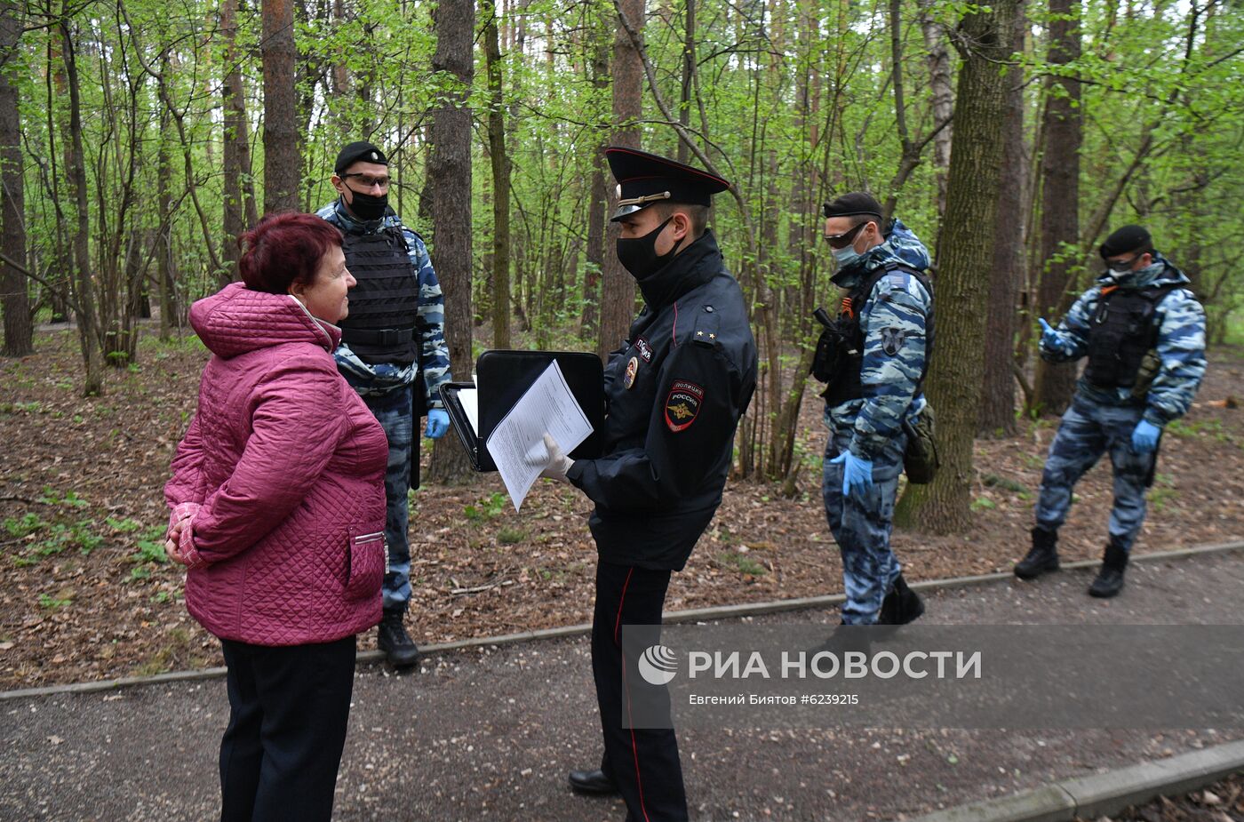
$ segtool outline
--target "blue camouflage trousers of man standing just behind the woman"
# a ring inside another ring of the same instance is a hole
[[[384,541],[388,543],[388,572],[384,575],[384,609],[406,612],[411,603],[411,541],[409,522],[411,443],[414,424],[411,420],[411,387],[397,388],[363,402],[376,414],[389,441],[388,468],[384,470]]]

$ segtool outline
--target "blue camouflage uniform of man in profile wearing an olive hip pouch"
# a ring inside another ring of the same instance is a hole
[[[835,275],[835,282],[850,289],[867,272],[892,262],[917,270],[929,266],[924,245],[898,220],[884,242]],[[822,494],[830,531],[842,552],[846,624],[877,622],[881,603],[902,570],[889,548],[889,535],[907,444],[903,418],[914,419],[924,408],[917,387],[924,372],[931,306],[932,295],[911,274],[899,270],[882,276],[858,310],[865,335],[863,397],[825,409],[830,436]],[[872,461],[873,485],[862,497],[843,496],[843,466],[830,461],[845,450]]]

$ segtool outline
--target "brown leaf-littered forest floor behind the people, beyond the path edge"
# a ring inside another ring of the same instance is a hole
[[[37,353],[0,359],[0,688],[221,664],[185,612],[184,572],[163,551],[168,465],[193,413],[207,352],[194,338],[144,336],[137,363],[82,398],[77,335],[36,335]],[[1220,348],[1192,412],[1167,429],[1138,552],[1244,537],[1244,348]],[[1229,402],[1228,402],[1229,400]],[[974,521],[960,536],[896,532],[908,580],[1009,571],[1029,542],[1057,420],[977,441]],[[671,583],[667,609],[841,591],[825,524],[820,400],[809,393],[792,499],[780,484],[730,483],[717,519]],[[428,449],[424,449],[427,459]],[[1077,486],[1062,530],[1067,560],[1096,558],[1111,501],[1108,460]],[[591,619],[591,506],[541,480],[516,514],[496,474],[412,495],[417,642]],[[374,634],[361,647],[374,647]]]

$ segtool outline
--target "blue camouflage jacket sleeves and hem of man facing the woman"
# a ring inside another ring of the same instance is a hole
[[[401,229],[411,256],[411,271],[419,279],[419,307],[414,325],[419,331],[420,362],[411,366],[387,363],[369,366],[355,356],[350,346],[342,343],[333,352],[337,369],[360,394],[366,397],[384,394],[399,386],[409,386],[422,367],[428,408],[443,408],[444,404],[440,402],[440,394],[437,389],[442,383],[453,379],[449,373],[449,347],[445,344],[445,305],[440,293],[440,282],[432,267],[432,257],[428,256],[428,247],[423,244],[423,238],[402,225],[402,219],[392,209],[379,220],[363,223],[346,211],[341,198],[316,211],[316,216],[328,220],[345,234],[372,234],[382,229]]]

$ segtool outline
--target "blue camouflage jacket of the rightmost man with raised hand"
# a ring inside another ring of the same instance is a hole
[[[1154,262],[1135,276],[1118,284],[1120,289],[1147,289],[1163,284],[1188,284],[1188,277],[1161,254],[1154,255]],[[1103,286],[1113,285],[1107,275],[1088,289],[1055,330],[1059,343],[1040,344],[1041,358],[1047,362],[1071,362],[1088,353],[1088,322],[1097,312]],[[1188,289],[1176,289],[1166,295],[1153,312],[1157,327],[1157,356],[1161,361],[1158,372],[1144,395],[1144,419],[1153,425],[1166,425],[1188,413],[1192,398],[1200,388],[1205,376],[1205,311]],[[1138,400],[1131,388],[1103,389],[1088,384],[1084,377],[1076,384],[1076,392],[1107,405],[1133,405]]]

